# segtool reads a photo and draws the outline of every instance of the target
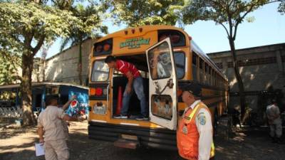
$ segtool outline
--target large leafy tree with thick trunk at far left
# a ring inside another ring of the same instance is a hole
[[[33,124],[31,74],[33,57],[44,43],[68,36],[78,26],[69,11],[46,5],[47,1],[0,2],[1,53],[21,53],[21,94],[25,125]]]

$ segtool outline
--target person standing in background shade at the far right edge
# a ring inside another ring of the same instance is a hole
[[[270,137],[272,142],[281,143],[282,121],[280,118],[279,107],[276,100],[271,100],[271,105],[266,107],[266,115],[270,128]]]

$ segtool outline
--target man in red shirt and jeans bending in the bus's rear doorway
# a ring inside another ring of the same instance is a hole
[[[127,119],[128,118],[128,108],[130,103],[130,97],[135,90],[138,99],[140,100],[140,113],[141,115],[136,118],[138,120],[148,119],[147,117],[147,106],[145,102],[145,92],[143,90],[143,80],[140,76],[140,72],[135,65],[132,63],[125,62],[123,60],[117,60],[112,55],[108,55],[105,59],[105,63],[108,64],[109,68],[114,68],[120,71],[128,78],[128,83],[125,86],[125,92],[123,94],[123,107],[120,111],[120,115],[115,116],[115,118]]]

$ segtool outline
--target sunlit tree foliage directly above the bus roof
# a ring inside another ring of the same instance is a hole
[[[103,1],[109,7],[115,23],[127,26],[172,25],[179,20],[175,13],[183,6],[183,0],[115,0]]]

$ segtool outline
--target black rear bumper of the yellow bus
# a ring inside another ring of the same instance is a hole
[[[140,146],[177,150],[176,132],[169,129],[152,129],[128,125],[89,122],[88,137],[107,142],[116,142],[122,134],[138,137]]]

